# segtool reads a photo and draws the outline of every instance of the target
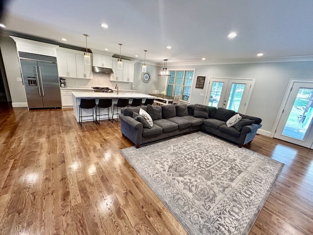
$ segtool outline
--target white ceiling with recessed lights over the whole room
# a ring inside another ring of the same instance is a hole
[[[86,33],[93,52],[119,54],[121,43],[123,56],[143,60],[146,49],[148,63],[170,66],[311,60],[312,12],[312,0],[11,0],[1,23],[85,48]]]

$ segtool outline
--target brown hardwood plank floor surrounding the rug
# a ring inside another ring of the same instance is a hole
[[[185,235],[119,149],[119,122],[0,107],[0,235]],[[285,166],[250,235],[313,234],[313,150],[257,136]]]

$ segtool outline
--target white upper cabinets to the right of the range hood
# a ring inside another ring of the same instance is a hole
[[[117,69],[117,59],[112,58],[112,71],[111,81],[119,82],[134,82],[134,63],[131,61],[123,60],[123,69]]]

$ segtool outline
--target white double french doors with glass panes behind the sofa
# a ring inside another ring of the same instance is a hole
[[[253,79],[210,78],[206,104],[245,113]]]

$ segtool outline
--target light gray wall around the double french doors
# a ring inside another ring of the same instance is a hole
[[[186,67],[168,66],[168,69],[174,68],[184,70]],[[313,61],[201,65],[195,66],[195,68],[190,98],[190,103],[193,104],[205,104],[210,76],[255,77],[255,84],[246,114],[262,118],[261,130],[266,132],[267,135],[270,135],[290,79],[313,80]],[[206,77],[203,90],[195,88],[197,76]],[[200,96],[201,93],[204,93],[204,96]],[[264,132],[262,134],[265,134]]]

